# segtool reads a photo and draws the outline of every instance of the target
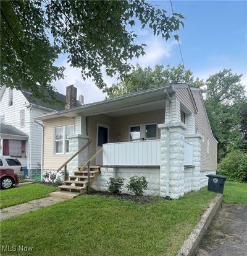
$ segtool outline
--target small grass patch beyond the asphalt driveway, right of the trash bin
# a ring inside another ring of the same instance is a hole
[[[225,203],[247,204],[247,183],[225,182],[223,194]]]

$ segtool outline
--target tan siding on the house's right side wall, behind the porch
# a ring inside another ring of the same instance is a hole
[[[204,142],[201,142],[201,170],[216,170],[217,142],[212,136],[201,92],[199,90],[192,90],[192,93],[198,108],[198,113],[196,114],[196,129],[204,136]],[[209,154],[207,154],[207,138],[209,138]]]

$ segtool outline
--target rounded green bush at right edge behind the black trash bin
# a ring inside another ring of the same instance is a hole
[[[232,150],[218,165],[217,173],[227,176],[227,180],[247,182],[247,154]]]

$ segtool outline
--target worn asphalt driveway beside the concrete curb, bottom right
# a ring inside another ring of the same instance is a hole
[[[246,256],[247,205],[222,204],[195,256]]]

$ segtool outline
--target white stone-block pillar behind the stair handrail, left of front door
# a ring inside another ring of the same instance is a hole
[[[80,148],[88,143],[88,136],[72,135],[69,136],[69,157],[73,156]],[[88,147],[85,148],[80,154],[72,159],[69,163],[69,175],[73,174],[74,170],[77,170],[78,166],[85,164],[88,161]]]

